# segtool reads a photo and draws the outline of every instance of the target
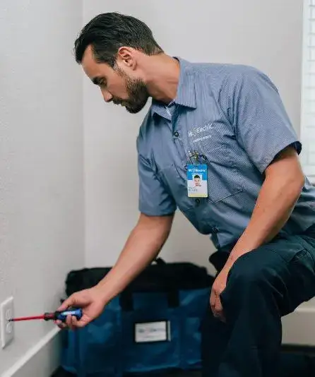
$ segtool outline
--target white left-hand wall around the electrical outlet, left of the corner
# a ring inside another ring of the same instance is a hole
[[[76,0],[0,2],[0,302],[13,295],[18,316],[56,309],[84,262],[81,25]],[[18,323],[0,375],[54,328]]]

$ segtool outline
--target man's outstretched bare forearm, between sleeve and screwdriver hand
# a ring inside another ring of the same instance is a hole
[[[117,296],[157,256],[172,227],[172,216],[146,217],[138,224],[126,241],[123,251],[112,270],[97,285],[105,302]]]

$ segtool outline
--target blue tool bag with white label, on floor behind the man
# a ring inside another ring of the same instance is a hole
[[[109,270],[71,271],[66,296],[93,287]],[[63,330],[61,366],[91,377],[201,369],[201,321],[213,280],[206,268],[158,258],[95,321]]]

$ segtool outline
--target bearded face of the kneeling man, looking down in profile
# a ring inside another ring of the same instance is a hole
[[[100,86],[105,102],[114,102],[126,107],[131,114],[140,112],[148,101],[148,90],[143,80],[130,77],[123,68],[112,68],[105,63],[97,63],[89,46],[82,60],[83,70]]]

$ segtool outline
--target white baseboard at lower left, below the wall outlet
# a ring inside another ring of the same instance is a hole
[[[54,328],[1,377],[48,377],[58,368],[59,328]]]

